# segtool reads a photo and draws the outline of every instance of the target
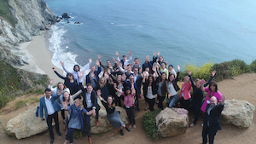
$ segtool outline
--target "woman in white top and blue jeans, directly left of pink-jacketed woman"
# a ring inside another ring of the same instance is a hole
[[[169,101],[169,108],[172,108],[175,102],[177,101],[177,91],[179,90],[179,87],[177,86],[177,81],[179,78],[179,72],[180,72],[180,66],[177,65],[177,77],[173,73],[170,73],[169,76],[169,82],[168,82],[168,101]]]

